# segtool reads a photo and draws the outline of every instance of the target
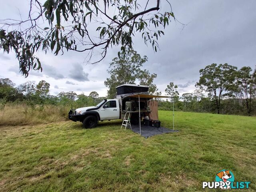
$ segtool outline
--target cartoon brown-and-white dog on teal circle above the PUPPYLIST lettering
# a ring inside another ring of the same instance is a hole
[[[215,181],[223,184],[220,185],[221,189],[230,189],[230,182],[234,182],[234,174],[230,170],[221,170],[216,174]]]

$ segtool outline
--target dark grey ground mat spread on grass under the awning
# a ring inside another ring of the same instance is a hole
[[[135,133],[140,134],[140,126],[132,125],[132,131]],[[148,138],[154,135],[160,135],[164,133],[172,133],[172,132],[179,132],[178,130],[171,130],[165,127],[152,127],[152,126],[144,126],[141,125],[141,136]]]

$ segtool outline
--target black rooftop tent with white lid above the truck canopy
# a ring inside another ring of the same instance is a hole
[[[117,95],[140,93],[140,92],[148,92],[148,87],[143,85],[136,85],[136,84],[124,84],[116,87]]]

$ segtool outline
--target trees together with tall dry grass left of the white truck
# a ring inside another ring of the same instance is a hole
[[[104,98],[97,92],[88,96],[75,92],[49,94],[50,84],[28,81],[15,86],[8,78],[0,79],[0,126],[35,125],[68,120],[73,108],[95,106]]]

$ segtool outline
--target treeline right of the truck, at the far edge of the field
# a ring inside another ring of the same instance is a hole
[[[175,110],[256,115],[256,69],[244,66],[238,70],[228,64],[211,64],[200,70],[195,86],[193,93],[181,97],[178,86],[172,82],[167,86],[165,92],[174,99]],[[159,108],[172,110],[172,101],[159,101]]]

